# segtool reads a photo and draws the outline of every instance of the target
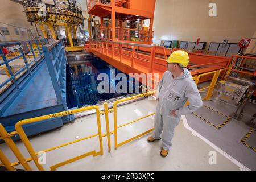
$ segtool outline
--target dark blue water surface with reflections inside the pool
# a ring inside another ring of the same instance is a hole
[[[67,78],[68,87],[68,107],[78,107],[96,105],[97,102],[109,100],[115,97],[126,96],[129,93],[110,93],[110,89],[115,88],[119,81],[110,80],[110,71],[114,71],[116,76],[120,72],[118,69],[112,67],[108,63],[105,63],[98,57],[90,55],[84,57],[80,61],[70,61],[69,59],[69,72],[70,77]],[[109,77],[109,93],[98,93],[97,86],[101,80],[97,80],[100,73],[106,73]],[[113,74],[113,73],[112,73]],[[127,77],[127,92],[133,90],[135,92],[135,86],[140,86],[141,83],[135,81],[134,78]],[[121,80],[120,80],[121,81]],[[68,86],[69,85],[69,86]],[[111,88],[112,87],[112,88]],[[114,89],[113,89],[114,90]],[[141,89],[139,89],[141,92]]]

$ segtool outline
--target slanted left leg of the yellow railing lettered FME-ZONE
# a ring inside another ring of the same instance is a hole
[[[30,153],[31,158],[34,160],[36,167],[38,167],[38,169],[40,171],[44,171],[43,166],[41,164],[39,164],[39,162],[38,162],[38,157],[36,156],[36,153],[30,143],[30,140],[28,140],[27,135],[25,134],[25,132],[23,130],[22,123],[20,123],[20,122],[16,123],[15,129],[18,132],[19,137],[22,140],[24,146],[27,148],[28,153]]]

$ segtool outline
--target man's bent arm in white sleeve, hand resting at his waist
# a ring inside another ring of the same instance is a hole
[[[185,92],[185,97],[188,98],[189,105],[180,107],[176,112],[177,115],[192,113],[203,105],[203,101],[195,83],[188,86],[188,89]]]

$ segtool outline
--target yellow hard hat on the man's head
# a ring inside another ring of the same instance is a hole
[[[183,65],[183,67],[187,67],[189,62],[188,59],[189,57],[187,52],[178,50],[172,52],[166,61],[167,63],[179,63]]]

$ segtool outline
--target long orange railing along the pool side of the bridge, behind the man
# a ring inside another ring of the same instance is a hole
[[[163,46],[92,39],[89,40],[89,46],[91,50],[100,52],[124,65],[129,65],[141,73],[154,72],[161,76],[161,71],[166,67],[166,52]],[[143,49],[143,52],[141,52],[141,49]],[[115,64],[119,63],[113,63],[113,66],[115,67]],[[133,71],[130,73],[133,73]]]

